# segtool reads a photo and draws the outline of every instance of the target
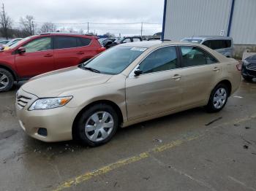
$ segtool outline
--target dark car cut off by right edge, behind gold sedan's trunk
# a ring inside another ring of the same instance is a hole
[[[246,81],[252,81],[256,77],[256,55],[251,55],[244,59],[242,75]]]

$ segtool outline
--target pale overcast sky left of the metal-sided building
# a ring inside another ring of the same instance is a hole
[[[37,28],[51,22],[57,23],[57,28],[87,32],[89,22],[89,32],[128,36],[140,35],[143,22],[143,35],[162,31],[164,0],[1,0],[1,3],[12,18],[13,28],[20,27],[20,17],[32,15]]]

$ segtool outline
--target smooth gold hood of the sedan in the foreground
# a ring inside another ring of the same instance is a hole
[[[39,98],[54,97],[66,91],[105,83],[111,77],[111,75],[98,74],[75,66],[31,78],[21,88]]]

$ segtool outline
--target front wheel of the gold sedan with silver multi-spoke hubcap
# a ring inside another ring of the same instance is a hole
[[[117,129],[118,115],[113,107],[96,104],[80,114],[75,126],[75,139],[82,144],[97,147],[110,141]]]

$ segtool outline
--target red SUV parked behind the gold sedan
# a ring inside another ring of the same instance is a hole
[[[76,66],[104,51],[97,37],[77,34],[29,36],[0,52],[0,92],[13,82],[69,66]]]

